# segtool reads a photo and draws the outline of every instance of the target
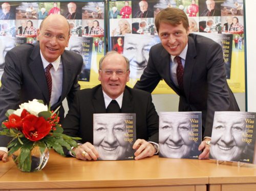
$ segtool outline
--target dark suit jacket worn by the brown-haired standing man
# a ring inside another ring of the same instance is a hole
[[[170,55],[161,43],[152,46],[147,67],[134,88],[152,92],[163,79],[179,96],[179,111],[202,111],[204,136],[211,136],[215,111],[239,111],[226,81],[222,47],[196,34],[188,35],[183,86],[170,79]]]

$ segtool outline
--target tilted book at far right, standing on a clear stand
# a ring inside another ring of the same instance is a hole
[[[255,163],[256,113],[216,111],[210,141],[210,159]]]

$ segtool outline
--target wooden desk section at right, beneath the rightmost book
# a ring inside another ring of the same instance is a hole
[[[193,160],[198,168],[208,171],[209,191],[252,191],[256,190],[256,165],[224,162],[219,165],[215,160]]]

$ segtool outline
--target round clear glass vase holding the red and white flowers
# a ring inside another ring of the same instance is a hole
[[[23,172],[36,172],[45,167],[49,159],[49,149],[46,148],[45,151],[41,153],[39,147],[33,147],[28,156],[29,158],[25,159],[28,161],[26,163],[20,162],[21,157],[19,155],[20,149],[12,154],[12,159],[17,165],[17,168]]]

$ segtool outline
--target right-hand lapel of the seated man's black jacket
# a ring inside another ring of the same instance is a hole
[[[134,113],[134,101],[129,87],[125,86],[122,101],[122,113]]]

